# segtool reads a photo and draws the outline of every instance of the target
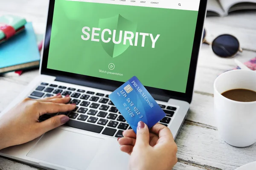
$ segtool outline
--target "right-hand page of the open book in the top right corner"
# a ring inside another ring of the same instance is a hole
[[[225,13],[241,9],[256,9],[256,0],[219,0]]]

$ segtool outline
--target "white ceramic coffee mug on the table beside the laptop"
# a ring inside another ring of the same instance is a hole
[[[235,147],[256,142],[256,102],[237,102],[221,94],[232,89],[256,91],[256,72],[227,71],[214,82],[214,112],[222,139]]]

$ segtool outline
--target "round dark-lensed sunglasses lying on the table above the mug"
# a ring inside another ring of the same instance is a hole
[[[239,52],[242,52],[239,41],[236,37],[230,34],[223,34],[216,37],[212,43],[207,42],[205,39],[206,31],[204,29],[203,43],[207,43],[211,46],[212,51],[219,57],[232,58],[235,57]]]

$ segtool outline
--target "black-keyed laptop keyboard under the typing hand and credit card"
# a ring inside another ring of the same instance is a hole
[[[76,103],[76,108],[70,112],[45,114],[39,118],[42,122],[56,115],[69,116],[70,120],[64,125],[93,133],[101,133],[107,136],[123,137],[122,132],[131,127],[108,98],[108,94],[85,91],[65,86],[58,86],[42,82],[41,85],[29,95],[31,99],[50,97],[61,93],[62,96],[70,95],[69,103]],[[159,105],[166,113],[166,117],[160,123],[168,126],[177,108],[173,106]]]

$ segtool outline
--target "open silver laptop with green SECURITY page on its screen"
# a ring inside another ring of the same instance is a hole
[[[1,156],[55,170],[127,170],[117,138],[128,123],[108,95],[137,76],[177,136],[192,100],[206,0],[49,0],[40,74],[26,97],[69,94],[70,121]]]

